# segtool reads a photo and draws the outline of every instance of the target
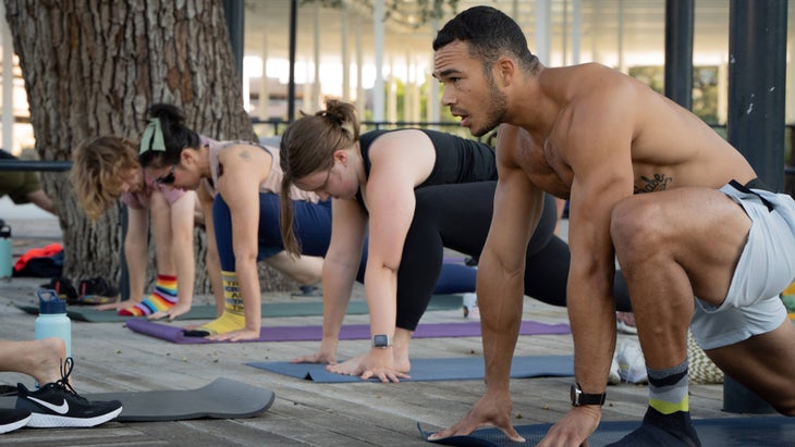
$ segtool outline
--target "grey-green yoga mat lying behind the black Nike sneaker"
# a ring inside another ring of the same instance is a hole
[[[273,405],[273,392],[231,378],[216,378],[196,389],[86,394],[88,400],[119,400],[121,422],[240,419],[255,417]],[[14,408],[15,396],[0,397],[0,408]]]

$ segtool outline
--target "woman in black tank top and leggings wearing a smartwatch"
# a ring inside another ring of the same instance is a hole
[[[322,271],[323,339],[315,355],[295,361],[330,363],[329,371],[382,382],[408,377],[408,343],[430,300],[443,248],[477,258],[486,241],[497,186],[493,150],[426,129],[359,135],[355,108],[332,100],[288,127],[281,154],[283,197],[294,183],[333,198]],[[527,246],[525,294],[565,306],[568,247],[554,235],[554,200],[548,197],[542,207]],[[282,200],[284,247],[299,253],[306,241],[295,234],[292,215],[290,201]],[[372,348],[337,364],[338,335],[366,237]],[[522,311],[521,302],[510,306]]]

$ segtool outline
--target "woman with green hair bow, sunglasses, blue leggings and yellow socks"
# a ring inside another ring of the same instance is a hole
[[[148,115],[139,162],[160,185],[196,189],[206,216],[208,257],[215,254],[215,265],[208,262],[208,270],[221,276],[222,287],[213,287],[220,316],[185,333],[232,342],[257,338],[261,325],[257,261],[265,260],[299,283],[317,283],[331,232],[331,206],[293,188],[291,197],[299,213],[296,231],[307,241],[304,256],[293,258],[284,251],[279,226],[278,148],[200,136],[170,104],[154,104]]]

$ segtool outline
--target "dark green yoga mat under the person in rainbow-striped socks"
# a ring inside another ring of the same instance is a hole
[[[38,306],[15,305],[23,311],[38,315]],[[463,306],[461,295],[433,295],[428,305],[428,310],[451,310]],[[351,301],[347,306],[347,314],[367,313],[367,303],[362,300]],[[69,307],[66,314],[72,321],[85,321],[89,323],[113,323],[125,322],[130,316],[117,314],[114,310],[98,311],[86,307]],[[262,318],[271,316],[319,316],[323,314],[322,301],[289,301],[289,302],[266,302],[262,303]],[[216,318],[215,306],[194,306],[189,312],[178,320],[212,320]]]

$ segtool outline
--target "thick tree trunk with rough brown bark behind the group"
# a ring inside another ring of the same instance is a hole
[[[42,160],[71,160],[73,148],[97,135],[138,140],[154,102],[182,108],[200,134],[256,140],[220,0],[4,1]],[[64,276],[118,281],[120,206],[91,225],[68,173],[41,177],[63,229]],[[196,293],[208,293],[205,236],[196,235]],[[260,276],[267,290],[295,286],[269,268]]]

